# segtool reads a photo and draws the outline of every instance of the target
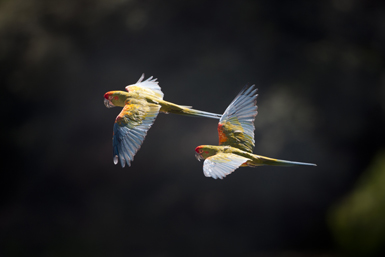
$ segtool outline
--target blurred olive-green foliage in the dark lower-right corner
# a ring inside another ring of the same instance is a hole
[[[385,151],[379,152],[352,192],[329,215],[338,245],[350,256],[385,254]]]

